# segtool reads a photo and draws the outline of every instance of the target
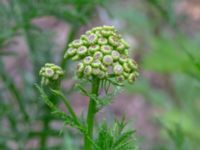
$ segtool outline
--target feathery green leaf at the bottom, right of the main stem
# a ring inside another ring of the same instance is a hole
[[[102,123],[96,139],[97,150],[136,150],[135,132],[125,127],[124,120],[116,121],[111,128]]]

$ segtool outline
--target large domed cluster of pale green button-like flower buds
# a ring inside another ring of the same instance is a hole
[[[133,82],[138,76],[137,64],[128,57],[128,44],[113,26],[95,27],[69,44],[64,58],[78,61],[78,77]]]

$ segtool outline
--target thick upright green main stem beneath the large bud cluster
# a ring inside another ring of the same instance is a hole
[[[96,77],[93,77],[92,80],[92,94],[98,96],[100,80]],[[92,143],[90,140],[93,139],[93,127],[94,127],[94,118],[96,112],[96,102],[93,98],[90,98],[88,114],[87,114],[87,131],[88,134],[84,137],[84,150],[92,150]]]

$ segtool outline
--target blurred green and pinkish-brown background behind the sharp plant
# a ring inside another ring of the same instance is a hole
[[[141,150],[200,149],[199,0],[1,0],[0,150],[81,149],[81,135],[63,128],[34,84],[44,63],[62,66],[62,87],[85,113],[87,99],[75,94],[74,66],[63,54],[100,25],[122,33],[140,77],[98,117],[126,115]]]

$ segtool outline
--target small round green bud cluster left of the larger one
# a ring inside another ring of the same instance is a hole
[[[41,84],[48,85],[51,82],[60,81],[60,79],[64,76],[64,72],[61,67],[46,63],[44,67],[40,69],[39,75],[42,77]]]

